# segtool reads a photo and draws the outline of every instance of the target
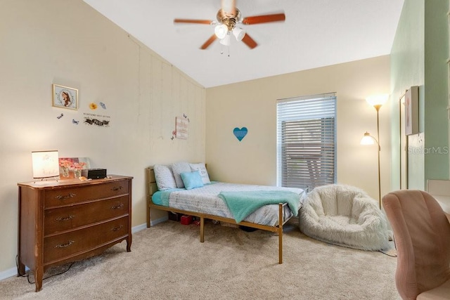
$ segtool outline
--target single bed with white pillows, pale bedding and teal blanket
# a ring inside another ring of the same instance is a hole
[[[192,188],[190,183],[189,185],[191,186],[186,185],[183,188],[180,188],[179,185],[176,186],[177,182],[164,185],[158,181],[158,178],[162,177],[160,175],[160,165],[146,168],[147,227],[150,228],[151,211],[157,209],[168,211],[169,213],[181,213],[198,217],[200,219],[200,242],[205,241],[205,219],[271,231],[278,235],[278,263],[283,263],[283,226],[290,218],[297,216],[304,199],[305,191],[300,188],[222,183],[210,181],[209,178],[205,181],[205,174],[207,176],[205,164],[188,165],[191,167],[189,171],[184,169],[185,172],[179,171],[177,173],[176,168],[172,164],[172,174],[174,175],[175,181],[177,176],[178,181],[180,181],[182,179],[179,178],[180,174],[197,176],[195,172],[198,171],[199,174],[202,174],[203,183],[198,183],[199,186],[195,186],[195,188]],[[155,176],[155,169],[157,167],[158,175]],[[171,169],[171,167],[168,169]],[[184,167],[187,168],[186,165]],[[195,167],[198,168],[195,169]],[[170,178],[171,174],[169,174],[169,171],[165,170],[165,172],[167,172],[165,174],[167,178]],[[161,190],[158,189],[158,186],[162,187]],[[234,199],[237,197],[236,195],[240,197]],[[247,195],[249,197],[248,200],[241,199],[241,196],[247,197]],[[255,207],[252,207],[252,198],[261,196],[262,199],[260,200],[264,202],[263,198],[266,195],[269,195],[273,199],[264,205],[257,204],[259,208],[255,209]],[[243,204],[243,201],[249,202]],[[274,201],[276,203],[272,204]],[[238,209],[247,211],[242,213],[237,212],[236,205]],[[252,212],[249,213],[248,211]]]

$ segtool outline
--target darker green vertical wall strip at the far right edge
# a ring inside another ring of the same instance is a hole
[[[449,178],[448,0],[425,1],[425,181]]]

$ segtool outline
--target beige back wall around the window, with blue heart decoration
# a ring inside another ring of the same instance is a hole
[[[378,199],[376,146],[359,145],[376,135],[372,94],[389,93],[390,58],[382,56],[314,70],[219,86],[206,91],[206,157],[219,181],[276,184],[276,100],[336,92],[338,183],[356,185]],[[390,191],[389,103],[380,109],[382,195]],[[235,127],[248,128],[242,141]]]

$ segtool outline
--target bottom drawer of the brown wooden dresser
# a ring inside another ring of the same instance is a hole
[[[44,238],[44,265],[127,236],[128,216],[96,226]]]

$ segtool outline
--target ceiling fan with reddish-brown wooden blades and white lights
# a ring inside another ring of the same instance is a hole
[[[191,24],[205,24],[216,25],[214,27],[214,34],[207,39],[205,43],[200,46],[200,49],[206,49],[217,38],[220,39],[220,44],[229,46],[230,36],[233,34],[238,41],[243,41],[251,49],[258,46],[257,42],[248,35],[238,25],[254,25],[267,22],[283,22],[286,17],[284,13],[273,13],[269,15],[254,15],[243,18],[239,9],[236,7],[236,0],[221,0],[221,8],[217,12],[216,20],[195,20],[195,19],[174,19],[174,23],[191,23]]]

